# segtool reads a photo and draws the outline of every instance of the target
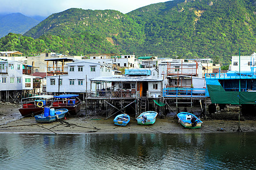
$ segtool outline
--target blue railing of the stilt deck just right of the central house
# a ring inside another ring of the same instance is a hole
[[[163,97],[205,97],[206,88],[163,88]]]

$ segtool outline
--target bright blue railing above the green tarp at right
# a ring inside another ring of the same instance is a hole
[[[206,73],[205,79],[256,79],[256,73]]]

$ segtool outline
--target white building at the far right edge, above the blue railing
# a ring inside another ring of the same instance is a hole
[[[256,53],[251,56],[232,56],[231,71],[251,71],[256,66]]]

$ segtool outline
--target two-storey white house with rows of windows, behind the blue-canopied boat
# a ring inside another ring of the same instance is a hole
[[[90,87],[90,79],[98,76],[111,76],[112,66],[87,62],[85,60],[67,63],[68,74],[47,76],[47,93],[82,93],[96,90]]]

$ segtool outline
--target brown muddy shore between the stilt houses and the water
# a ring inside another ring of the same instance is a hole
[[[137,125],[136,120],[131,120],[125,127],[115,126],[114,117],[105,120],[105,117],[73,116],[65,120],[49,124],[36,123],[34,117],[20,115],[19,105],[11,103],[0,104],[0,133],[49,133],[49,134],[115,134],[115,133],[226,133],[236,132],[238,121],[229,120],[204,120],[200,129],[186,129],[173,117],[156,118],[154,125]],[[82,111],[81,111],[82,112]],[[243,132],[256,131],[255,120],[240,121]]]

